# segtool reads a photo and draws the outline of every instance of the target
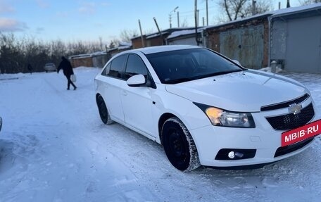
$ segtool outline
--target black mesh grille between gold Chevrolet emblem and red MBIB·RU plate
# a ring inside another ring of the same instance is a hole
[[[313,105],[310,103],[306,108],[301,110],[301,113],[289,113],[286,115],[268,117],[266,119],[275,130],[291,130],[306,125],[314,115]]]

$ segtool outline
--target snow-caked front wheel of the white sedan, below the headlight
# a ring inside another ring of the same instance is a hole
[[[199,153],[187,127],[178,118],[169,118],[162,127],[162,143],[170,163],[182,171],[199,168]]]

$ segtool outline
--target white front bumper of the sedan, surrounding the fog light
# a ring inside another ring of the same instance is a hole
[[[313,103],[306,101],[303,107]],[[313,104],[313,106],[315,106]],[[281,147],[281,136],[285,130],[274,130],[267,117],[284,115],[288,109],[252,113],[256,128],[218,127],[208,125],[190,130],[199,153],[201,165],[213,167],[239,167],[244,165],[258,165],[272,163],[297,153],[301,153],[313,143],[313,138],[300,141],[290,146]],[[316,109],[315,109],[316,113]],[[317,120],[316,116],[310,120]],[[223,152],[224,151],[224,152]],[[239,151],[245,154],[243,158],[229,158],[229,151]],[[246,152],[252,156],[246,158]],[[254,152],[254,153],[253,153]],[[218,158],[225,155],[225,159]]]

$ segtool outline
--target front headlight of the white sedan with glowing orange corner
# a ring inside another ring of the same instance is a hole
[[[225,111],[220,108],[194,103],[207,115],[215,126],[225,127],[256,127],[251,113]]]

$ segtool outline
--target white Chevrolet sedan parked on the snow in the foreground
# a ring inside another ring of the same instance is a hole
[[[263,166],[313,142],[308,137],[282,146],[282,132],[316,120],[303,84],[248,70],[199,46],[119,53],[95,83],[101,120],[162,144],[179,170]]]

